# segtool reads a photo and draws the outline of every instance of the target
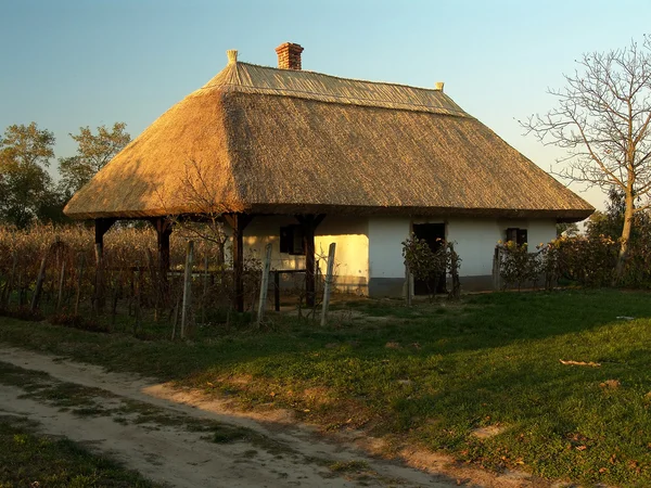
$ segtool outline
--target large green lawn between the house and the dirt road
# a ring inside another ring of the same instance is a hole
[[[191,343],[2,318],[0,342],[231,395],[244,408],[291,408],[324,428],[383,435],[395,450],[419,445],[493,470],[651,486],[651,294],[340,308],[327,329],[272,316],[272,331],[201,330]]]

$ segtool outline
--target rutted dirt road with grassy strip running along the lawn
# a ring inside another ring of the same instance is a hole
[[[409,467],[369,454],[381,441],[361,433],[334,441],[282,410],[241,412],[197,391],[2,346],[0,414],[38,421],[174,487],[549,486],[405,449],[421,470]]]

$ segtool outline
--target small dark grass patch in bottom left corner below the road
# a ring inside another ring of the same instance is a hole
[[[26,419],[0,415],[0,488],[161,486],[68,439],[38,434],[36,427]]]

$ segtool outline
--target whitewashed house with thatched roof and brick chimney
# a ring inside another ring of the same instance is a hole
[[[306,269],[337,243],[337,284],[400,295],[410,232],[455,241],[464,290],[490,286],[498,240],[538,244],[593,208],[459,107],[443,90],[238,61],[169,108],[68,203],[95,219],[151,219],[165,266],[166,217],[224,215],[242,255],[273,245],[276,269]],[[190,168],[190,169],[189,169]],[[194,174],[192,171],[195,171]],[[202,195],[189,195],[188,181]],[[314,239],[312,239],[314,234]],[[247,251],[246,251],[247,249]]]

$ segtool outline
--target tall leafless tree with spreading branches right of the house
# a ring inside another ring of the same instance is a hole
[[[649,207],[651,191],[651,40],[642,47],[584,54],[566,86],[548,90],[558,105],[521,121],[546,145],[565,149],[556,174],[570,181],[616,189],[625,198],[620,258],[622,277],[638,211]]]

